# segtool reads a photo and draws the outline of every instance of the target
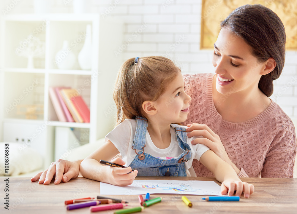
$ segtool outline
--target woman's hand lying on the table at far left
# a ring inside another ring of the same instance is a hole
[[[77,178],[79,175],[79,165],[82,160],[71,162],[63,159],[59,159],[51,163],[43,172],[37,173],[31,178],[31,181],[38,181],[40,184],[50,184],[53,176],[56,175],[54,184],[59,184],[61,180],[63,182],[70,181],[72,178]]]

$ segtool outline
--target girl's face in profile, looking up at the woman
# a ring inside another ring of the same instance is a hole
[[[179,72],[157,100],[158,119],[163,123],[184,122],[189,113],[191,97],[184,91],[184,78]]]

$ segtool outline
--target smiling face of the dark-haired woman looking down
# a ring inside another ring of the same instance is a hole
[[[265,63],[258,63],[243,39],[222,28],[216,43],[212,64],[215,67],[216,88],[221,94],[242,92],[246,95],[258,89],[260,72]]]

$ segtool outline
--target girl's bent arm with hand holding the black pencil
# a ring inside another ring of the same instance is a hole
[[[137,175],[137,170],[129,173],[132,171],[131,167],[118,168],[103,166],[99,163],[100,159],[110,160],[117,154],[119,154],[118,149],[110,140],[108,140],[103,146],[98,148],[81,162],[79,167],[81,175],[85,178],[102,181],[117,186],[127,186],[132,184]],[[119,158],[116,158],[111,162],[119,165],[125,164],[125,162]]]

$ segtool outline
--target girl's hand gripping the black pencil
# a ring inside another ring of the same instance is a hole
[[[120,158],[113,159],[110,162],[119,164],[119,165],[125,164],[125,162]],[[126,167],[126,168],[109,167],[109,166],[107,167],[108,167],[107,173],[109,175],[108,183],[117,185],[117,186],[127,186],[132,184],[132,182],[134,181],[138,173],[137,170],[135,170],[134,172],[131,172],[132,171],[131,167]]]

